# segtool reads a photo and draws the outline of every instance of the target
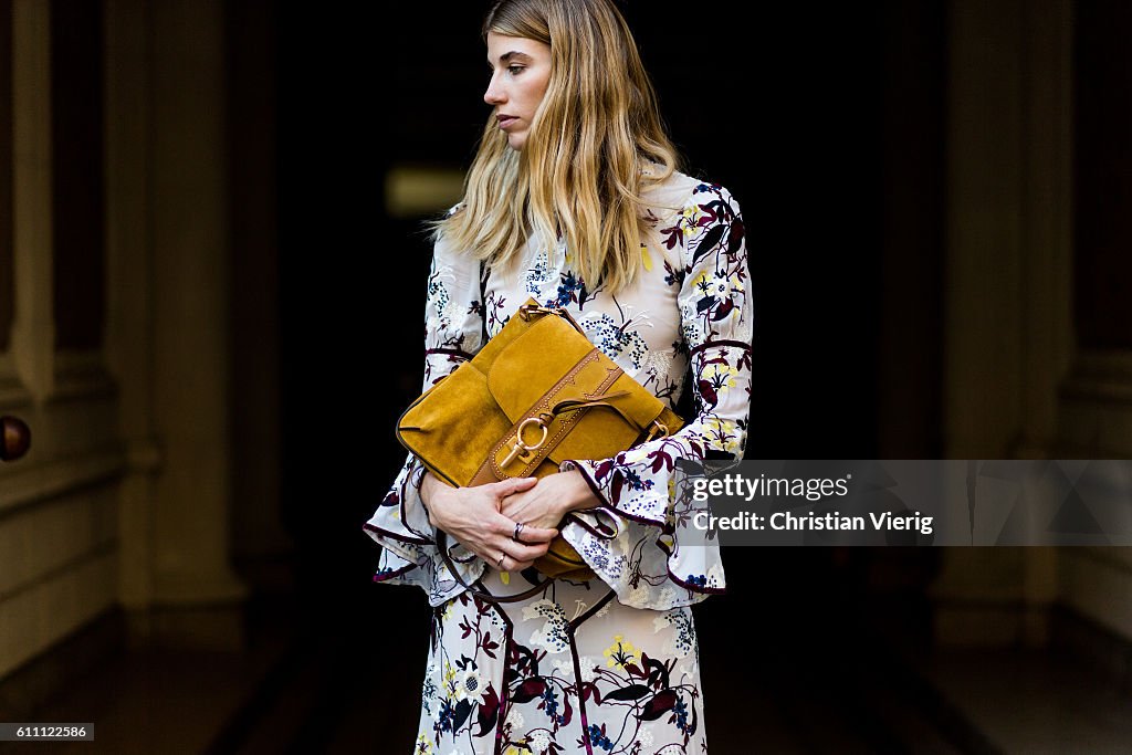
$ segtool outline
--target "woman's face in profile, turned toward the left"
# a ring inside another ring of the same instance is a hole
[[[550,83],[550,45],[488,32],[488,66],[491,81],[483,102],[495,108],[511,148],[522,149]]]

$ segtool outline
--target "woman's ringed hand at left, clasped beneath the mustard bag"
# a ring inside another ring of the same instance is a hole
[[[499,513],[500,501],[534,483],[534,478],[516,478],[474,488],[453,488],[430,473],[421,481],[421,499],[432,526],[447,532],[492,567],[518,572],[546,556],[550,541],[558,537],[552,525],[543,529],[525,523],[520,542],[514,539],[517,520]]]

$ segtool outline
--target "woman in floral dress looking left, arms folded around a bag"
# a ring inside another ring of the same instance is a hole
[[[375,581],[417,584],[435,607],[415,752],[705,752],[689,606],[723,592],[723,569],[718,548],[689,544],[669,482],[677,458],[743,455],[752,314],[739,206],[676,170],[610,0],[503,0],[483,34],[492,113],[463,201],[435,228],[424,387],[534,297],[674,405],[691,361],[697,414],[669,438],[538,481],[454,489],[410,455],[366,530],[384,547]],[[511,603],[463,586],[529,590],[559,532],[595,578]]]

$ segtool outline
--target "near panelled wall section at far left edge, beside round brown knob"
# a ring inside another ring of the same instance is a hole
[[[105,358],[102,153],[83,148],[87,136],[101,141],[101,9],[52,15],[48,3],[17,0],[0,10],[0,71],[10,81],[0,117],[10,298],[0,310],[11,314],[0,318],[0,411],[22,417],[34,437],[26,458],[0,470],[2,676],[117,602],[126,458]],[[70,44],[52,48],[52,36]],[[61,102],[76,89],[84,96]]]

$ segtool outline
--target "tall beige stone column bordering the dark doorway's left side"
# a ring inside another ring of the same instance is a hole
[[[229,240],[222,0],[148,6],[154,424],[153,602],[231,603]]]

